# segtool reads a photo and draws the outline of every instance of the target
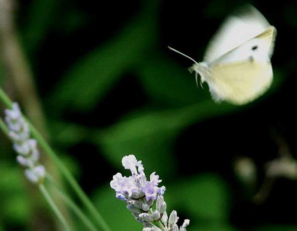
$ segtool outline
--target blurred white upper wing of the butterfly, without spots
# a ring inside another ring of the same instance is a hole
[[[206,49],[204,61],[212,63],[227,52],[259,35],[271,27],[264,16],[247,5],[229,16]]]

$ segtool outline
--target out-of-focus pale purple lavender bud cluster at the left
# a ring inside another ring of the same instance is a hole
[[[21,110],[17,103],[12,109],[6,109],[6,122],[10,129],[15,151],[19,154],[17,161],[26,168],[25,175],[33,183],[41,183],[45,177],[45,168],[38,164],[39,151],[37,141],[30,138],[28,123],[22,117]]]

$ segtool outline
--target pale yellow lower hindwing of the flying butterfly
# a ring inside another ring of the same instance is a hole
[[[257,60],[216,65],[211,74],[208,83],[213,98],[238,105],[262,95],[270,87],[273,77],[271,63]]]

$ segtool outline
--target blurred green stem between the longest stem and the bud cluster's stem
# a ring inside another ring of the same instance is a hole
[[[91,230],[91,231],[98,231],[98,229],[92,224],[92,222],[87,218],[87,216],[81,211],[81,209],[72,201],[71,198],[68,197],[67,194],[65,194],[60,188],[59,186],[54,182],[54,180],[52,179],[52,177],[47,174],[46,175],[47,180],[49,181],[49,183],[54,186],[54,189],[56,190],[56,192],[59,194],[59,196],[62,198],[62,200],[68,205],[68,207],[70,209],[72,209],[72,211],[74,213],[76,213],[76,215],[81,219],[81,221],[85,224],[85,226]]]

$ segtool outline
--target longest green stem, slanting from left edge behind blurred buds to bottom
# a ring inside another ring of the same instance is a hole
[[[8,107],[12,108],[12,101],[8,98],[8,96],[5,94],[5,92],[0,88],[0,100],[3,101],[3,103]],[[90,199],[86,196],[86,194],[82,191],[77,181],[74,179],[72,174],[69,172],[69,170],[65,167],[65,165],[60,161],[60,159],[57,157],[56,153],[53,151],[53,149],[49,146],[49,144],[45,141],[45,139],[42,137],[42,135],[36,130],[36,128],[28,121],[28,119],[23,116],[26,122],[28,123],[32,136],[37,140],[38,144],[42,147],[42,149],[47,153],[47,155],[52,159],[52,161],[55,163],[56,167],[61,171],[61,173],[64,175],[65,179],[69,182],[72,189],[75,191],[75,193],[78,195],[79,199],[82,201],[82,203],[85,205],[85,207],[89,210],[91,215],[95,218],[96,223],[105,231],[111,231],[111,228],[108,226],[108,224],[105,222],[101,214],[97,211],[95,206],[92,204]]]

